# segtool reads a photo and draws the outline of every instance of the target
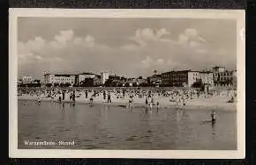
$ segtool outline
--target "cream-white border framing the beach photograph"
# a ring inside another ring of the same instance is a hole
[[[245,158],[245,11],[9,9],[9,156],[12,158]],[[79,150],[18,149],[17,18],[229,18],[237,20],[237,150]]]

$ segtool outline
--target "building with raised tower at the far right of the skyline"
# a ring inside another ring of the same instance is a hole
[[[215,86],[236,86],[237,71],[229,71],[223,67],[213,68]]]

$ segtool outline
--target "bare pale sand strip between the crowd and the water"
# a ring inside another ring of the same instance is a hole
[[[90,104],[90,96],[87,98],[84,95],[76,97],[76,104]],[[37,101],[38,97],[31,95],[22,95],[18,97],[19,100],[34,100]],[[159,102],[159,108],[176,108],[179,107],[176,103],[169,102],[169,97],[154,97],[155,100]],[[102,96],[94,97],[92,104],[108,104],[113,106],[126,107],[128,106],[129,97],[117,98],[114,94],[111,94],[111,103],[107,103],[107,99],[103,100]],[[54,97],[52,100],[49,97],[41,97],[41,101],[44,102],[58,102],[58,97]],[[145,107],[145,98],[134,97],[133,98],[133,107]],[[210,98],[193,98],[185,101],[185,105],[182,108],[183,110],[206,110],[206,111],[237,111],[236,102],[227,103],[227,99],[217,96]],[[65,95],[65,99],[62,100],[62,103],[73,103],[72,100],[68,98],[68,95]],[[153,105],[153,108],[156,108],[156,105]]]

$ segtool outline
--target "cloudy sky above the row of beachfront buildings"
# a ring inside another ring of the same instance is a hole
[[[236,28],[233,19],[19,18],[19,78],[236,69]]]

